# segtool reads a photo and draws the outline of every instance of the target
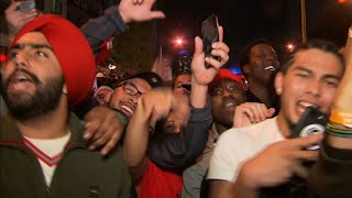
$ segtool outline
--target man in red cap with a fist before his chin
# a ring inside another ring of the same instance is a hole
[[[246,90],[240,76],[228,69],[220,69],[209,84],[211,113],[213,123],[209,130],[207,145],[198,162],[184,172],[183,197],[201,197],[201,183],[207,174],[212,151],[219,135],[232,127],[255,123],[266,119],[274,112],[267,110],[263,103],[245,103]],[[262,118],[255,118],[252,114]],[[248,120],[245,119],[248,118]]]

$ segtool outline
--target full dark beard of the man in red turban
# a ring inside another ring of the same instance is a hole
[[[45,82],[40,82],[33,78],[34,74],[28,75],[34,79],[36,90],[34,95],[9,95],[9,82],[3,87],[3,100],[8,105],[9,112],[18,120],[28,120],[37,116],[45,114],[57,108],[61,96],[63,94],[64,78],[46,79]],[[9,78],[10,79],[10,78]],[[37,78],[36,78],[37,79]]]

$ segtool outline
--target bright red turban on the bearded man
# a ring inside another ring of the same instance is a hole
[[[34,31],[43,33],[52,45],[64,73],[68,99],[77,106],[90,94],[96,75],[95,57],[87,38],[65,18],[44,14],[24,25],[11,46]]]

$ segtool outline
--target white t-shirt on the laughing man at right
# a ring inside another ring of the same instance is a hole
[[[277,119],[267,119],[248,128],[230,129],[220,135],[210,160],[207,179],[234,183],[241,165],[270,144],[285,140]]]

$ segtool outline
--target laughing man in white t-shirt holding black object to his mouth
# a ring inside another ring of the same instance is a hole
[[[298,47],[275,78],[282,102],[278,116],[220,136],[208,172],[211,197],[302,196],[305,187],[290,178],[307,177],[302,162],[317,160],[318,151],[305,148],[322,135],[285,139],[308,107],[330,112],[343,73],[334,44],[316,41]]]

